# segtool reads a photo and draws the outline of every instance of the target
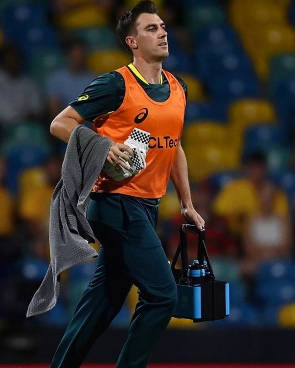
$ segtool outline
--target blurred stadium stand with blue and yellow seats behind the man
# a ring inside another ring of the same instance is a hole
[[[25,318],[49,263],[49,205],[66,149],[50,122],[97,75],[131,62],[115,27],[136,2],[0,1],[0,363],[48,363],[93,274],[95,261],[68,270],[57,305]],[[295,363],[295,1],[155,3],[167,23],[163,67],[188,87],[182,146],[231,313],[172,319],[153,359]],[[169,184],[158,227],[169,260],[181,223]],[[188,242],[193,260],[197,240]],[[136,300],[132,289],[89,361],[115,361]]]

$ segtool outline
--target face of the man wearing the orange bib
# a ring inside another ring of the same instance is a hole
[[[168,55],[165,23],[157,14],[142,13],[136,22],[137,34],[133,36],[136,44],[134,52],[148,62],[164,60]]]

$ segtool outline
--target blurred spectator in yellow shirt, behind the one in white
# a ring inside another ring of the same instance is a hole
[[[232,180],[217,194],[213,211],[227,219],[235,236],[241,236],[246,218],[260,210],[259,193],[266,180],[266,157],[263,153],[253,152],[244,160],[244,175]],[[279,190],[275,192],[273,210],[280,216],[289,215],[287,197]]]

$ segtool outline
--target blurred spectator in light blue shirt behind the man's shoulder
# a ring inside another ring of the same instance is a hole
[[[65,45],[67,67],[55,70],[46,81],[50,120],[81,94],[96,77],[87,67],[87,50],[84,43],[71,40]]]

